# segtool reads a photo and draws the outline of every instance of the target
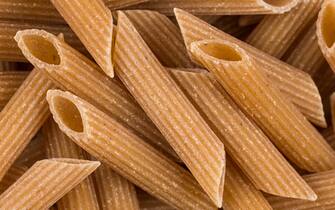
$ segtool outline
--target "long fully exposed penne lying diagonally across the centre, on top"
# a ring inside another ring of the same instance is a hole
[[[113,61],[116,73],[200,186],[221,207],[225,174],[223,144],[127,16],[123,12],[118,16]]]

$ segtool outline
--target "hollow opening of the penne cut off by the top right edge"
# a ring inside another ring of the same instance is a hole
[[[321,21],[322,36],[330,48],[335,43],[335,4],[330,3],[324,8]]]

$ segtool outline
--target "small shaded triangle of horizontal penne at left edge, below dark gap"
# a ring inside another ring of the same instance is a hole
[[[0,110],[7,104],[22,82],[27,77],[28,72],[5,71],[0,72]]]

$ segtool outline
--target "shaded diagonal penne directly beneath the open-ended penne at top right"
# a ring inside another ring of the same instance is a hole
[[[266,16],[247,42],[276,58],[281,58],[299,34],[317,16],[323,0],[301,0],[285,14]]]

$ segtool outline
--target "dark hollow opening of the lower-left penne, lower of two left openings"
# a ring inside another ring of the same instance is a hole
[[[83,132],[83,120],[77,106],[67,98],[57,96],[53,100],[55,112],[62,123],[75,132]]]

